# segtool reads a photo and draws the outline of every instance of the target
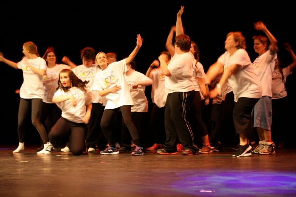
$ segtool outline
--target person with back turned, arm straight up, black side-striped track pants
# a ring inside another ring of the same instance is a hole
[[[177,140],[184,147],[182,155],[195,155],[197,145],[194,143],[193,131],[188,120],[189,107],[194,99],[193,66],[194,56],[190,52],[191,40],[183,34],[181,6],[176,20],[175,53],[171,61],[166,63],[164,54],[159,56],[160,67],[165,75],[165,92],[168,94],[165,103],[164,125],[166,141],[164,148],[157,150],[158,154],[178,154]]]

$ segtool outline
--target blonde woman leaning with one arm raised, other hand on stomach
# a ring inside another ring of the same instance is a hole
[[[96,74],[93,90],[98,91],[101,97],[105,96],[107,104],[101,119],[101,129],[106,137],[109,146],[101,150],[100,154],[118,154],[118,148],[115,147],[116,136],[112,130],[112,118],[116,112],[121,111],[125,125],[129,128],[133,143],[136,145],[132,155],[143,155],[144,150],[139,139],[139,132],[132,121],[131,107],[134,104],[130,93],[130,88],[126,83],[124,74],[128,70],[128,64],[136,56],[142,46],[143,39],[137,35],[137,44],[132,53],[119,62],[108,65],[107,55],[99,52],[96,56],[96,64],[100,66],[101,71]]]

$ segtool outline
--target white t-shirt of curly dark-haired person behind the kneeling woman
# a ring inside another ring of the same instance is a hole
[[[87,83],[87,88],[89,90],[93,89],[94,81],[95,81],[95,75],[97,72],[99,72],[101,69],[98,65],[93,64],[90,67],[85,67],[83,64],[76,66],[72,69],[72,71],[75,73],[75,75],[81,79],[82,81],[89,81]],[[103,97],[100,97],[97,91],[93,91],[93,103],[104,103]]]

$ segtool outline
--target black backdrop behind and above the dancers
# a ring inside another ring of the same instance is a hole
[[[33,41],[41,56],[48,46],[53,46],[58,60],[66,55],[76,64],[82,63],[79,52],[84,47],[93,47],[98,52],[113,51],[122,59],[135,47],[136,34],[140,33],[143,46],[135,58],[136,69],[145,73],[165,49],[167,34],[175,25],[181,5],[185,6],[182,15],[185,33],[199,46],[205,71],[224,52],[225,36],[230,31],[245,35],[247,51],[254,60],[251,37],[258,33],[253,28],[258,20],[278,39],[279,56],[284,64],[291,63],[282,43],[289,42],[296,50],[296,11],[292,1],[286,0],[276,3],[269,0],[4,0],[0,12],[0,51],[7,59],[17,62],[23,56],[22,44]],[[0,144],[16,143],[19,96],[15,90],[23,81],[22,72],[0,63],[0,73]],[[291,120],[296,109],[294,84],[292,75],[287,82],[291,101],[287,113]],[[27,137],[28,141],[38,139],[34,128],[28,130],[31,136]],[[291,121],[289,133],[294,138],[293,131],[295,126]]]

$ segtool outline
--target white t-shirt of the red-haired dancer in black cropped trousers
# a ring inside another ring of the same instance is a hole
[[[262,97],[261,83],[254,72],[254,68],[245,49],[237,49],[231,56],[228,51],[225,51],[218,58],[218,62],[224,65],[224,70],[230,65],[241,65],[237,72],[228,78],[235,102],[241,97]]]

